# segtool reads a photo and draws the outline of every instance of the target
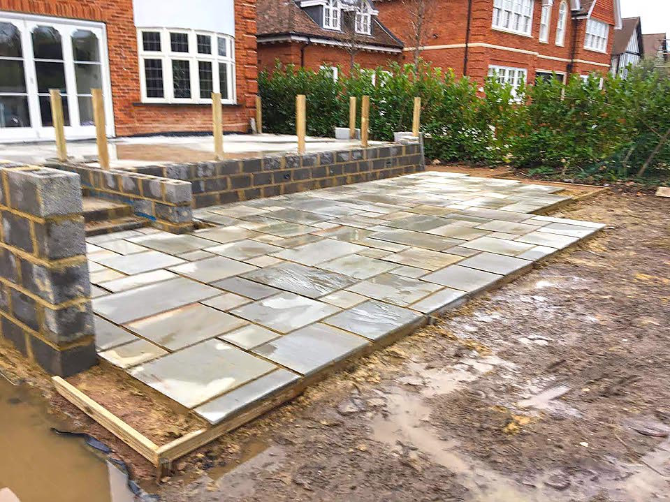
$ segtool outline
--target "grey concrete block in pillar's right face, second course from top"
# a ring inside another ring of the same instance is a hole
[[[42,258],[56,260],[86,254],[84,219],[33,223],[37,252]]]

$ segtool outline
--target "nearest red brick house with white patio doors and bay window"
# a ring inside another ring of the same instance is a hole
[[[90,89],[108,135],[247,131],[257,92],[255,0],[0,0],[0,142],[54,138],[49,89],[67,138],[92,138]]]

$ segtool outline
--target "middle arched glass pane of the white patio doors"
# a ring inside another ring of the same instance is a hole
[[[59,31],[51,26],[38,26],[32,32],[37,93],[43,127],[52,127],[49,90],[59,89],[63,99],[65,125],[70,125],[68,96],[65,84],[65,62]]]

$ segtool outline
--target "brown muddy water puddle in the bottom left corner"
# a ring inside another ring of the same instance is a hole
[[[58,436],[34,390],[0,376],[0,502],[132,502],[125,476],[79,438]]]

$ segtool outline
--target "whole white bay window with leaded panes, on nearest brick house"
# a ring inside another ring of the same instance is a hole
[[[138,30],[140,89],[145,103],[235,103],[235,42],[210,31]]]

